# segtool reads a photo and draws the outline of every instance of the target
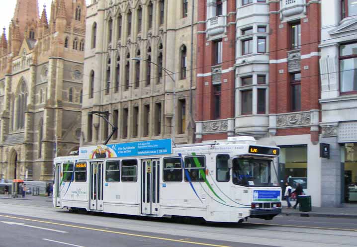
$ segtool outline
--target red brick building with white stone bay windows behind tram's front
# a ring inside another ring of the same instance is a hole
[[[320,1],[200,0],[195,141],[277,145],[280,181],[321,205]]]

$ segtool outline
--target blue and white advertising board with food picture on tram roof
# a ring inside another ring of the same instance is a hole
[[[80,159],[102,159],[170,154],[172,154],[171,139],[98,145],[82,147],[79,149]]]

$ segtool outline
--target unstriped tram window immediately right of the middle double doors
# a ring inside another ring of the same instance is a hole
[[[181,158],[165,158],[163,166],[164,182],[181,182],[182,165]]]

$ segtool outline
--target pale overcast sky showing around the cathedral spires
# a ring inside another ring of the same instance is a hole
[[[38,8],[41,16],[43,10],[43,4],[46,4],[47,19],[50,18],[50,7],[52,0],[38,0]],[[2,28],[6,28],[6,37],[8,38],[8,25],[11,18],[13,17],[13,12],[16,6],[16,0],[0,0],[0,28],[2,33]]]

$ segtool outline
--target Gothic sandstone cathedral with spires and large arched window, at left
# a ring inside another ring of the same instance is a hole
[[[52,179],[81,136],[85,0],[17,0],[0,41],[0,178]],[[57,144],[57,145],[56,145]]]

